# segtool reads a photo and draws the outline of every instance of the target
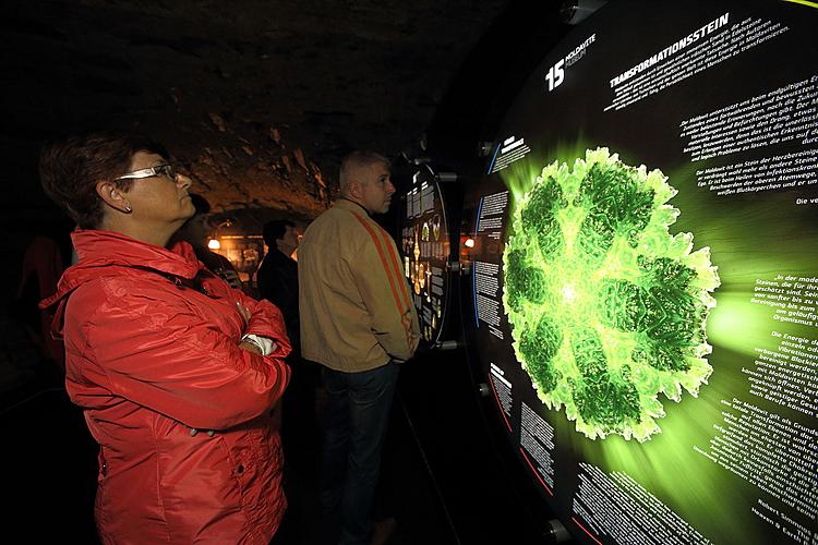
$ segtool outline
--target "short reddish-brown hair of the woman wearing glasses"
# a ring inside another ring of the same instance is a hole
[[[71,136],[47,145],[39,157],[43,189],[83,229],[95,229],[103,220],[99,181],[112,181],[128,190],[133,180],[116,180],[125,173],[139,152],[158,154],[166,160],[165,146],[141,134],[94,133]]]

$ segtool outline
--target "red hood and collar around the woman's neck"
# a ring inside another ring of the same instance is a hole
[[[89,280],[121,274],[122,268],[153,269],[163,275],[192,279],[203,267],[187,242],[178,242],[167,250],[121,233],[92,229],[75,230],[71,233],[71,240],[80,261],[65,269],[57,284],[57,292],[40,301],[40,308],[57,304]]]

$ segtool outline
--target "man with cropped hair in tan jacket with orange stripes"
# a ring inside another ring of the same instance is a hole
[[[354,152],[341,162],[341,198],[299,246],[303,358],[323,365],[329,398],[321,453],[323,526],[369,544],[370,509],[399,363],[418,347],[418,315],[395,242],[370,216],[389,209],[389,161]],[[333,524],[333,522],[336,522]],[[328,532],[332,533],[332,532]]]

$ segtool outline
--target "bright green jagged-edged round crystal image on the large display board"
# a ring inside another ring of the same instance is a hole
[[[589,149],[545,167],[514,211],[503,303],[515,354],[542,402],[591,439],[649,439],[659,393],[696,397],[712,372],[720,280],[709,247],[670,234],[679,210],[666,180]]]

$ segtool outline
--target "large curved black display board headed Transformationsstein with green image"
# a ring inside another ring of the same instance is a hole
[[[659,4],[610,2],[507,112],[467,339],[578,541],[815,544],[818,8]]]

